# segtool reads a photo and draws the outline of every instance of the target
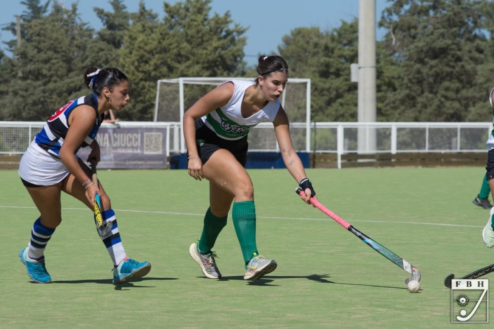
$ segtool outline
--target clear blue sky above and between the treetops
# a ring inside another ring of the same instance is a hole
[[[52,2],[55,0],[51,0]],[[78,2],[78,11],[81,19],[91,27],[99,30],[102,25],[93,11],[94,7],[111,10],[109,0],[63,0],[66,7]],[[372,0],[361,0],[372,1]],[[389,4],[388,0],[376,1],[376,20]],[[25,6],[20,0],[2,1],[0,10],[0,27],[15,22],[15,16],[22,14]],[[46,3],[46,0],[41,0]],[[177,0],[168,0],[175,3]],[[146,8],[152,9],[164,16],[163,0],[145,0]],[[303,5],[301,5],[303,3]],[[125,0],[128,11],[137,11],[139,0]],[[212,0],[211,12],[224,14],[230,11],[234,22],[243,27],[249,27],[246,33],[247,45],[244,48],[244,60],[249,65],[257,63],[259,54],[276,52],[282,37],[288,35],[297,27],[319,27],[321,30],[330,30],[340,26],[341,21],[351,21],[359,15],[359,0]],[[379,39],[384,31],[377,31]],[[15,36],[7,31],[0,31],[0,40],[14,39]],[[3,45],[0,45],[4,49]]]

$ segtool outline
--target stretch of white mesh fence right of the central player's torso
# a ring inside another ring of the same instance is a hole
[[[312,122],[291,123],[297,151],[316,153],[482,152],[493,129],[486,122]],[[263,130],[261,130],[263,129]],[[273,125],[262,123],[249,134],[249,150],[279,151]],[[361,140],[359,140],[359,136]],[[308,145],[308,147],[307,147]]]

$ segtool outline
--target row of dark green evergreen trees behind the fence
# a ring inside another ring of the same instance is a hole
[[[77,3],[23,0],[20,41],[16,22],[7,54],[0,51],[0,120],[45,120],[56,107],[89,90],[88,66],[118,67],[130,79],[123,120],[150,121],[159,79],[251,76],[243,61],[248,27],[230,12],[214,13],[211,0],[164,2],[164,15],[140,1],[112,11],[94,8],[103,28],[83,22]],[[378,121],[490,121],[494,82],[494,3],[491,0],[388,0],[376,43]],[[259,54],[266,53],[259,49]],[[312,79],[313,121],[356,121],[358,86],[350,64],[358,59],[358,19],[338,28],[297,27],[280,40],[278,54],[290,77]]]

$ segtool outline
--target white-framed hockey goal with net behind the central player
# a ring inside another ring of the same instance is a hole
[[[251,80],[242,77],[180,77],[161,79],[157,83],[154,121],[180,122],[189,109],[208,91],[228,80]],[[280,99],[290,120],[290,134],[297,151],[310,151],[310,79],[290,78]],[[250,151],[279,151],[271,123],[261,123],[248,135]],[[180,151],[186,152],[183,132]]]

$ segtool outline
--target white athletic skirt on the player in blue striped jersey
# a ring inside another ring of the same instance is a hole
[[[67,175],[69,170],[62,160],[50,156],[34,141],[22,155],[19,176],[26,182],[49,186],[62,181]]]

